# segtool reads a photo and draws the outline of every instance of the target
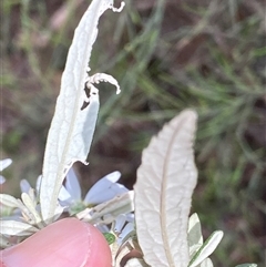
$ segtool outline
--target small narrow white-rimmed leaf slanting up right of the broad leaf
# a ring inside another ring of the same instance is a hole
[[[196,267],[204,259],[206,259],[218,246],[222,240],[224,233],[222,230],[215,230],[202,245],[202,247],[197,250],[195,256],[190,261],[190,267]]]

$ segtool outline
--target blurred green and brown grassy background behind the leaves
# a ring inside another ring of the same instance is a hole
[[[33,185],[41,173],[68,49],[89,2],[1,2],[1,158],[13,160],[4,193],[19,196],[19,181]],[[112,74],[122,93],[100,85],[90,165],[75,166],[84,191],[115,170],[132,188],[152,135],[192,107],[200,114],[192,209],[205,236],[225,232],[214,266],[265,266],[265,33],[263,0],[135,0],[108,11],[91,74]]]

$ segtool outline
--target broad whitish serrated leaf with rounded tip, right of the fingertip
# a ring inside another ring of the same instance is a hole
[[[196,185],[193,141],[196,113],[174,117],[142,155],[135,191],[135,220],[145,261],[152,267],[187,267],[187,225]]]

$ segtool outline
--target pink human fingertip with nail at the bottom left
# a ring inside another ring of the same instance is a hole
[[[76,218],[58,220],[0,251],[0,267],[112,267],[103,235]]]

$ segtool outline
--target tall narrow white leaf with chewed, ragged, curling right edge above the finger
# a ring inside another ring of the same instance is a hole
[[[116,85],[116,81],[109,75],[90,78],[86,73],[92,45],[98,35],[99,19],[106,9],[119,11],[113,8],[112,0],[92,1],[75,29],[69,50],[43,162],[40,203],[42,218],[47,223],[62,213],[58,195],[63,178],[74,162],[85,163],[91,146],[99,111],[98,90],[91,83],[103,79]],[[91,89],[89,100],[84,91],[86,81]],[[82,109],[84,102],[89,102],[89,105]]]

